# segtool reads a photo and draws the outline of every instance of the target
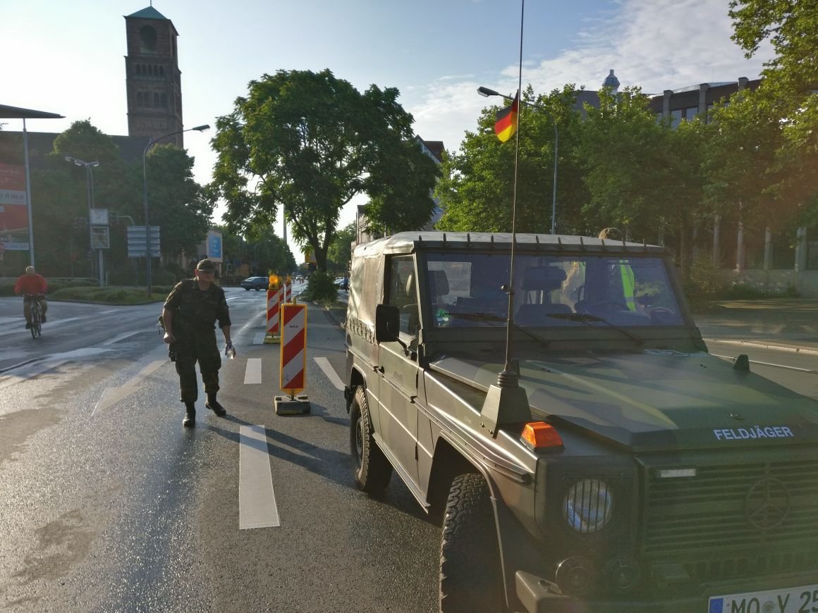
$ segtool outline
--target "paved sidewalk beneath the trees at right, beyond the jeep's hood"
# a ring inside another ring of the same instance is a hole
[[[815,299],[721,301],[694,317],[704,338],[818,351],[818,300]]]

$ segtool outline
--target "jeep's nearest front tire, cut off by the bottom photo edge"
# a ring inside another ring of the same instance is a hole
[[[505,611],[497,527],[482,475],[452,481],[440,543],[440,611]]]

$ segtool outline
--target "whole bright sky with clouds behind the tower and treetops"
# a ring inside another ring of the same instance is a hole
[[[123,16],[148,3],[4,2],[0,104],[65,115],[29,121],[33,132],[61,132],[72,121],[91,119],[103,132],[127,134]],[[564,83],[598,89],[609,69],[622,86],[638,85],[645,93],[756,78],[769,47],[744,59],[730,41],[727,5],[528,0],[524,84],[537,92]],[[188,127],[214,124],[264,73],[329,68],[359,90],[371,83],[398,87],[416,133],[453,150],[491,102],[477,95],[479,85],[516,88],[519,0],[155,0],[154,7],[179,33]],[[20,130],[21,122],[8,120],[5,129]],[[215,161],[212,136],[213,130],[186,135],[201,183],[210,180]],[[342,225],[353,218],[354,208],[346,208]]]

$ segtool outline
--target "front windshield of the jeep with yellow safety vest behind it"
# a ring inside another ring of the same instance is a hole
[[[434,326],[506,324],[508,253],[428,253]],[[519,327],[678,326],[678,302],[660,257],[515,256]]]

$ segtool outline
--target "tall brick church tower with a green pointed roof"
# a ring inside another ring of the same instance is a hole
[[[152,5],[125,17],[128,136],[157,138],[182,130],[182,73],[173,21]],[[183,146],[182,134],[167,139]]]

